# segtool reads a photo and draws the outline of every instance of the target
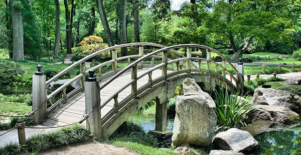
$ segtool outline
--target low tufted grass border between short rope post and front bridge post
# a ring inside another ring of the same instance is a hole
[[[79,124],[75,124],[60,130],[37,134],[28,138],[26,150],[37,152],[89,140],[92,140],[90,130]]]

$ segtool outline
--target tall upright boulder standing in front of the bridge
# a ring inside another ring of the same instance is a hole
[[[209,146],[217,123],[215,103],[194,79],[183,81],[184,96],[177,96],[172,145]]]

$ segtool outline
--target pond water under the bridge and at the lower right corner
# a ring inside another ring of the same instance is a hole
[[[140,124],[146,133],[155,129],[155,118],[132,115],[128,121]],[[167,129],[173,130],[173,127],[174,119],[168,119]],[[264,132],[256,135],[255,139],[260,143],[261,148],[249,154],[301,154],[301,126],[281,131]]]

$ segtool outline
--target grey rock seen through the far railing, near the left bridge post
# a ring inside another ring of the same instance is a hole
[[[69,80],[71,80],[71,79],[58,80],[58,81],[50,83],[50,87],[48,89],[49,92],[50,93],[54,92],[56,89],[58,89],[59,87],[61,87],[65,83],[67,83]],[[78,87],[80,87],[80,80],[77,80],[77,81],[73,82],[71,85],[67,86],[66,92],[67,93],[71,92]]]

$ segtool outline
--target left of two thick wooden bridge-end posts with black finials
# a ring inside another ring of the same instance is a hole
[[[36,124],[42,123],[46,118],[47,103],[45,103],[46,94],[46,75],[41,71],[42,65],[37,66],[38,71],[33,75],[33,111]]]

